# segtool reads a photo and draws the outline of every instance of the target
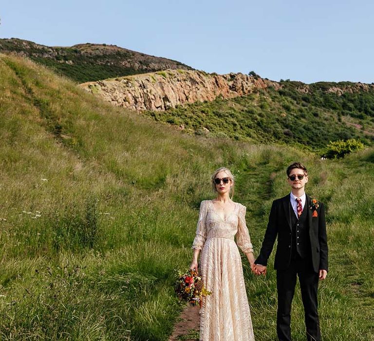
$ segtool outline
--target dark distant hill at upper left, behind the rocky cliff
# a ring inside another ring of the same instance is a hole
[[[78,83],[166,69],[192,70],[175,60],[107,44],[86,43],[71,47],[50,47],[11,38],[0,39],[0,53],[29,57]]]

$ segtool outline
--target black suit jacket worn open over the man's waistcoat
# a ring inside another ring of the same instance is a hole
[[[306,195],[304,209],[307,209],[307,224],[313,269],[318,272],[320,269],[328,270],[328,247],[325,222],[325,209],[322,203],[318,203],[317,217],[313,217],[313,210],[310,208],[311,198]],[[291,262],[291,246],[293,238],[291,217],[290,217],[290,194],[273,201],[269,214],[265,236],[259,257],[256,264],[267,265],[267,260],[273,249],[274,242],[278,236],[278,246],[275,254],[275,269],[286,269]],[[292,211],[292,208],[291,208]],[[291,212],[292,214],[293,212]]]

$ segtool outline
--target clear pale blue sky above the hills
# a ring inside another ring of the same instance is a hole
[[[0,38],[115,44],[198,70],[374,82],[373,0],[1,0]]]

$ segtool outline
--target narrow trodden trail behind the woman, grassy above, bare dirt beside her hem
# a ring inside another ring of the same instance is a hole
[[[263,201],[268,200],[272,193],[272,180],[276,174],[268,164],[258,165],[255,169],[244,170],[237,177],[236,186],[240,194],[234,201],[247,207],[247,221],[251,220],[251,226],[265,227],[263,222]],[[261,232],[262,234],[262,232]],[[261,236],[262,237],[262,236]],[[256,235],[256,239],[260,236]],[[182,311],[179,322],[174,325],[173,333],[168,341],[198,341],[199,340],[199,306],[187,305]]]

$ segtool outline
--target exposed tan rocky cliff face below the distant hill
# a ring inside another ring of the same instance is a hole
[[[201,71],[167,70],[80,85],[116,106],[133,110],[167,110],[218,96],[233,98],[279,83],[243,74],[213,75]]]

